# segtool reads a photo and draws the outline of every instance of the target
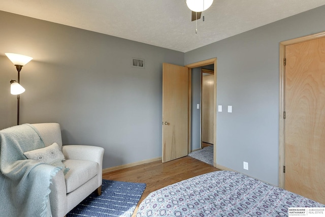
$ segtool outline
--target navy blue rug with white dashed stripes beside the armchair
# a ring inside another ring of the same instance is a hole
[[[145,188],[145,183],[103,179],[102,195],[92,193],[72,209],[67,217],[131,216]]]

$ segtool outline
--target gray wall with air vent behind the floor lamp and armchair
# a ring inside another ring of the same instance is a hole
[[[21,123],[60,123],[64,144],[105,148],[104,168],[161,157],[162,65],[183,65],[184,53],[1,11],[0,29],[0,129],[16,125],[5,53],[19,53],[34,57],[21,71]]]

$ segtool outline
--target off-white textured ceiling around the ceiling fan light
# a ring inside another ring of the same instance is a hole
[[[197,34],[184,0],[1,0],[0,10],[187,52],[322,5],[325,0],[214,0]]]

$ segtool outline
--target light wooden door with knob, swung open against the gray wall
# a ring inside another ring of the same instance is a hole
[[[163,163],[188,154],[188,68],[163,64]]]

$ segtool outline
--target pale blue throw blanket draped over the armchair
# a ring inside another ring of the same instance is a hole
[[[61,169],[28,160],[25,151],[44,148],[39,132],[29,124],[0,131],[1,216],[51,216],[51,178]]]

